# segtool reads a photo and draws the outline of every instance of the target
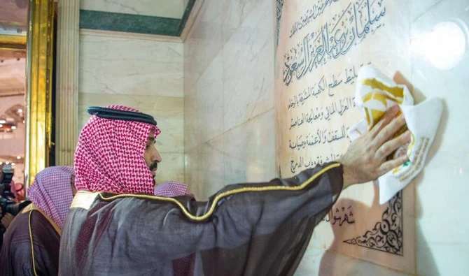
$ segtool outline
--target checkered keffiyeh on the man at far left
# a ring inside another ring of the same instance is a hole
[[[48,167],[36,175],[28,189],[29,200],[61,229],[73,200],[71,175],[73,168],[69,166]]]

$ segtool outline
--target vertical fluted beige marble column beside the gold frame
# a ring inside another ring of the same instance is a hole
[[[80,0],[59,0],[57,18],[57,92],[55,164],[73,165],[78,138],[78,51]]]

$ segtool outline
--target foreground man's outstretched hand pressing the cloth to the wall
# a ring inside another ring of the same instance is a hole
[[[339,160],[344,167],[344,189],[352,184],[377,180],[384,173],[407,161],[406,155],[386,161],[389,154],[410,139],[409,131],[391,139],[405,125],[404,116],[395,118],[398,112],[398,106],[389,108],[381,121],[369,132],[354,140]]]

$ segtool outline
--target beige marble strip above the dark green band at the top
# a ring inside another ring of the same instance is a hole
[[[80,8],[111,13],[181,18],[186,4],[186,0],[81,0]]]

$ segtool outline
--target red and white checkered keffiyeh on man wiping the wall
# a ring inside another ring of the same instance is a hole
[[[126,106],[106,106],[139,112]],[[92,115],[76,146],[75,186],[85,191],[118,194],[153,194],[153,175],[145,163],[148,134],[160,134],[151,124]]]

